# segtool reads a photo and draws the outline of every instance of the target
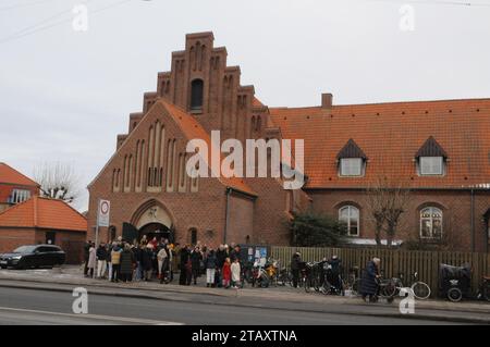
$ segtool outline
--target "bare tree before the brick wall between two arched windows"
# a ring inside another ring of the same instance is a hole
[[[401,227],[401,216],[411,200],[409,185],[403,181],[379,177],[366,191],[368,218],[375,224],[376,244],[381,246],[381,237],[387,236],[391,247]]]

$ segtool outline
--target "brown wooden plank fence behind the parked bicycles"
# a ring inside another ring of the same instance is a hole
[[[406,251],[391,249],[359,249],[359,248],[309,248],[309,247],[270,247],[270,256],[279,259],[282,267],[290,268],[291,257],[301,252],[303,261],[320,261],[324,257],[330,259],[336,255],[342,260],[345,274],[350,269],[358,268],[359,274],[373,257],[381,259],[381,270],[385,277],[397,277],[404,274],[405,285],[408,285],[411,275],[418,272],[419,281],[426,282],[438,294],[439,264],[461,267],[469,263],[471,272],[471,289],[480,285],[482,275],[490,274],[490,255],[475,252],[448,251]],[[344,274],[344,275],[345,275]]]

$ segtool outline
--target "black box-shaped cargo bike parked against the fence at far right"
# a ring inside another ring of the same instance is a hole
[[[452,267],[439,265],[439,295],[453,302],[467,297],[471,286],[471,268],[469,264]]]

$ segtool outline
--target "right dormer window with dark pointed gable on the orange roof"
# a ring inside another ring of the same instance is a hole
[[[420,176],[442,176],[445,173],[448,154],[431,136],[415,154]]]

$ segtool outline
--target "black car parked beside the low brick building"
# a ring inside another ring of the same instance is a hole
[[[52,268],[64,263],[66,255],[53,245],[21,246],[11,253],[0,255],[2,269]]]

